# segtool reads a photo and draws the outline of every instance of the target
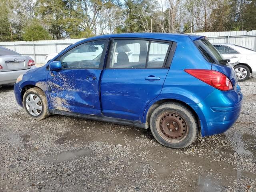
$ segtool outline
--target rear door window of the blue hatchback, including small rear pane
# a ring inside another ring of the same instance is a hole
[[[109,68],[162,68],[170,43],[114,40]]]

